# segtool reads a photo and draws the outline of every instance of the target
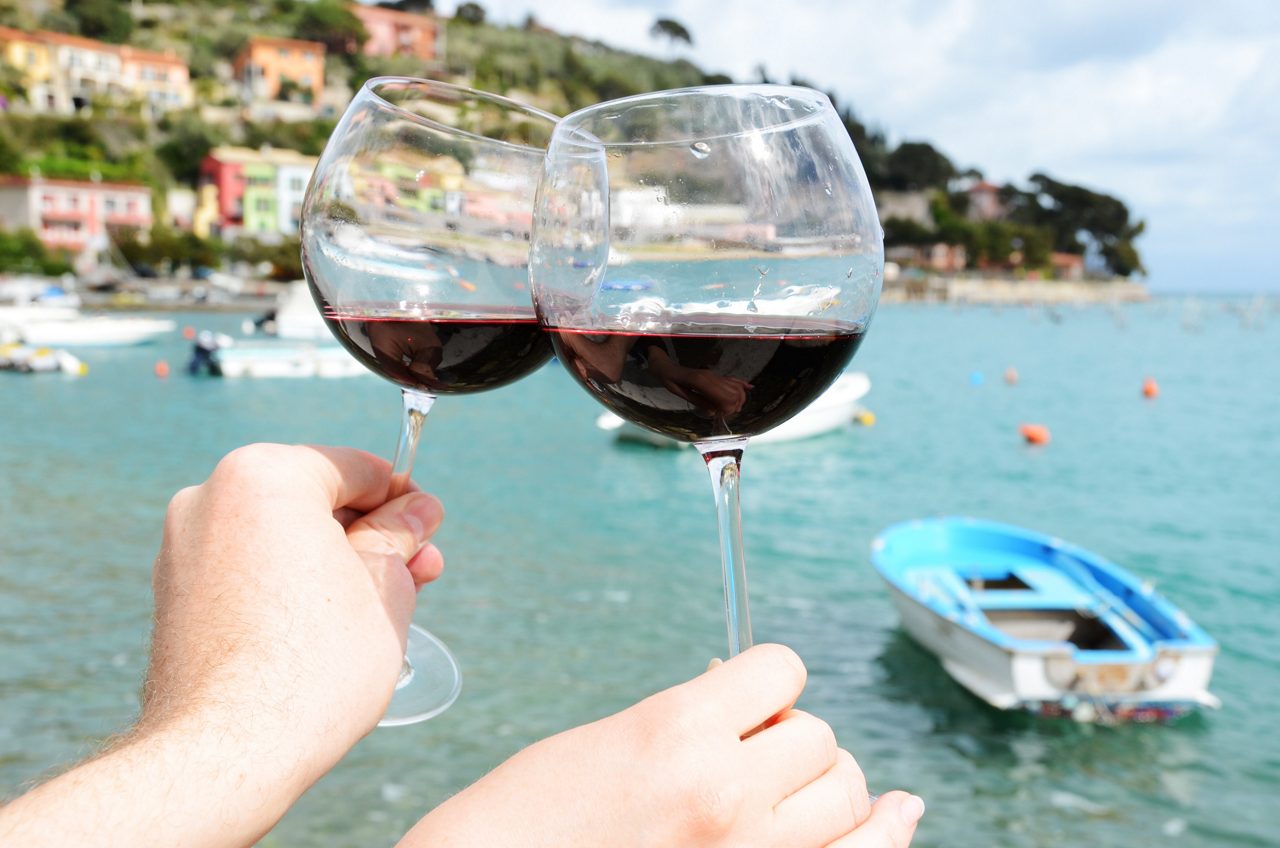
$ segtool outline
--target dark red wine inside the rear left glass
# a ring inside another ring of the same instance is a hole
[[[530,309],[476,315],[404,315],[403,309],[321,304],[329,329],[369,370],[434,395],[483,392],[535,371],[550,359]]]

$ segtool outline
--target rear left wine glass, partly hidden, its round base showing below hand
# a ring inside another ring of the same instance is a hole
[[[506,386],[550,357],[527,261],[554,124],[495,95],[381,77],[351,101],[320,156],[302,204],[302,268],[337,339],[401,387],[388,498],[408,491],[438,395]],[[381,725],[443,712],[461,681],[448,648],[411,626]]]

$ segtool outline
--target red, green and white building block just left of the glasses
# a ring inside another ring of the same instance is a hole
[[[200,165],[197,236],[293,236],[317,159],[294,150],[214,147]]]

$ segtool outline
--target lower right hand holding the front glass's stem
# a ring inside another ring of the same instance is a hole
[[[919,799],[888,793],[872,808],[831,728],[791,708],[804,683],[790,649],[751,648],[526,748],[401,848],[905,847]]]

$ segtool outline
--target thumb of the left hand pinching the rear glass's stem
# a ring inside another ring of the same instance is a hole
[[[366,512],[347,528],[347,542],[369,567],[389,608],[406,616],[412,614],[415,578],[407,566],[428,546],[443,519],[439,500],[411,492]]]

